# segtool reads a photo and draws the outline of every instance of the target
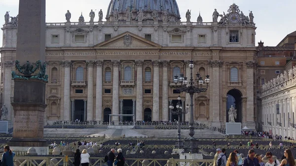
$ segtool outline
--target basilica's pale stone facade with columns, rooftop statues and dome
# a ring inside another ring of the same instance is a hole
[[[192,60],[194,73],[211,78],[208,91],[194,95],[194,120],[223,127],[233,105],[235,121],[255,129],[253,13],[245,16],[236,4],[225,6],[223,15],[213,11],[208,22],[200,15],[193,21],[190,11],[181,22],[176,0],[111,0],[107,21],[100,12],[90,13],[99,21],[86,22],[81,15],[73,22],[69,11],[66,23],[47,23],[46,121],[107,122],[109,114],[134,114],[136,121],[177,120],[169,105],[176,105],[179,95],[185,105],[189,96],[176,90],[173,79],[180,73],[188,77]],[[0,98],[12,120],[17,17],[2,31]]]

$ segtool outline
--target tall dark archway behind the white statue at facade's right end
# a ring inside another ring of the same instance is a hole
[[[237,110],[235,122],[242,122],[242,93],[237,89],[231,89],[227,93],[226,122],[229,122],[228,111],[231,105]]]

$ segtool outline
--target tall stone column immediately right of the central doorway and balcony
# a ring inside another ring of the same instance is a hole
[[[136,96],[136,121],[143,121],[143,63],[136,61],[137,66],[137,96]],[[133,100],[134,103],[134,100]],[[134,107],[134,104],[133,104]],[[134,113],[134,111],[133,111]]]

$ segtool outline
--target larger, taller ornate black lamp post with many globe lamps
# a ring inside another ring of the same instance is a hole
[[[194,68],[193,61],[190,61],[189,64],[190,68],[190,79],[189,82],[187,81],[187,77],[184,77],[184,74],[180,74],[180,78],[178,79],[178,75],[175,76],[175,79],[173,80],[176,84],[181,84],[177,89],[179,92],[185,92],[189,94],[190,96],[190,114],[189,114],[189,137],[185,139],[185,152],[190,153],[198,153],[197,148],[197,141],[198,139],[195,139],[193,137],[194,135],[194,120],[193,120],[193,95],[195,93],[199,94],[201,92],[206,92],[208,90],[208,85],[210,83],[209,75],[206,75],[206,79],[203,80],[201,75],[199,73],[196,74],[195,82],[193,79],[192,69]],[[187,85],[189,83],[189,85]]]

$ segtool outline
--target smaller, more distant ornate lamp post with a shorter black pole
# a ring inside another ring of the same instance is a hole
[[[181,97],[178,96],[178,102],[177,102],[177,105],[176,105],[176,110],[173,110],[174,109],[174,105],[173,103],[169,106],[172,114],[174,115],[178,115],[178,140],[176,141],[176,147],[181,149],[183,148],[183,141],[181,141],[181,115],[182,114],[186,114],[188,112],[188,109],[189,109],[189,105],[187,104],[185,109],[183,110],[183,107],[182,107],[182,104],[180,103],[181,101]]]

